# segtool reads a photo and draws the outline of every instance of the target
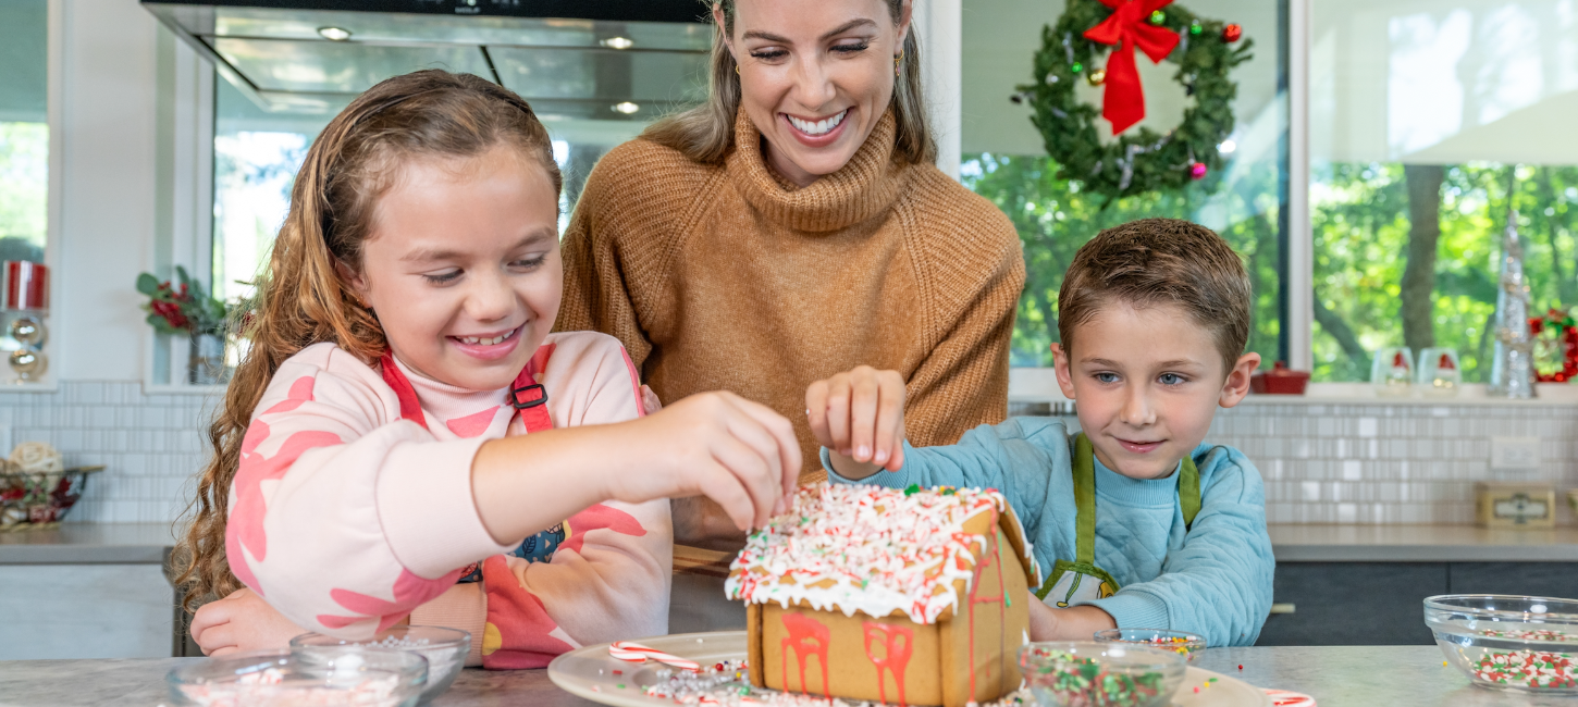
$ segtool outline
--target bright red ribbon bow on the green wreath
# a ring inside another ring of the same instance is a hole
[[[1146,92],[1139,87],[1135,47],[1146,52],[1150,62],[1161,63],[1179,46],[1176,32],[1150,24],[1150,13],[1171,2],[1101,0],[1101,5],[1112,8],[1112,14],[1084,32],[1086,39],[1112,46],[1112,54],[1106,58],[1106,93],[1101,96],[1101,117],[1112,123],[1114,136],[1146,117]]]

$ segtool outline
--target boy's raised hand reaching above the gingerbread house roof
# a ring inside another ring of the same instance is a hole
[[[805,413],[816,442],[832,451],[844,478],[866,478],[904,466],[904,377],[858,366],[805,391]]]

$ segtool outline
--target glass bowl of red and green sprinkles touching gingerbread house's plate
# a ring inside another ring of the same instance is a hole
[[[1188,660],[1131,644],[1035,642],[1019,649],[1019,672],[1041,707],[1160,707],[1184,682]]]

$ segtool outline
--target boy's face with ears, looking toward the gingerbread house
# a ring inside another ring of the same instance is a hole
[[[1261,365],[1245,354],[1225,372],[1212,333],[1177,305],[1106,305],[1075,328],[1073,350],[1053,344],[1053,354],[1095,458],[1130,478],[1172,473]]]

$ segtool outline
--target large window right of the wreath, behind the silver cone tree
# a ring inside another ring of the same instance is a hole
[[[1509,213],[1532,311],[1578,305],[1578,6],[1313,9],[1314,377],[1367,380],[1376,349],[1444,346],[1482,382]]]

